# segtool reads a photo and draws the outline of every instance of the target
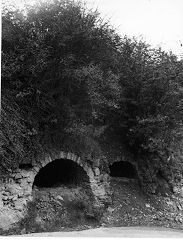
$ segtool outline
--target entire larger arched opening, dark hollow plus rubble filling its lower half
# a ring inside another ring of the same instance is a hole
[[[42,167],[33,182],[34,221],[38,219],[45,229],[57,226],[57,231],[87,222],[95,202],[90,182],[84,168],[70,159],[56,159]]]

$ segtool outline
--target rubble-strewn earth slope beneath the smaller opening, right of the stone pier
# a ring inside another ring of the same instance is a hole
[[[183,229],[183,198],[142,193],[135,180],[111,178],[113,203],[102,226],[162,226]]]

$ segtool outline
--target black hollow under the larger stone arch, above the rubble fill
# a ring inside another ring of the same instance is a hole
[[[36,175],[33,187],[50,188],[61,185],[84,186],[89,184],[86,172],[77,163],[68,159],[57,159],[48,163]]]

